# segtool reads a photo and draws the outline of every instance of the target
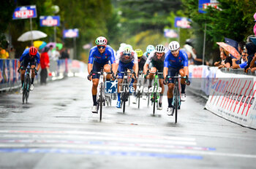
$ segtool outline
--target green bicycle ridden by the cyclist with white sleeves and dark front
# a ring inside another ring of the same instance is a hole
[[[159,77],[158,77],[158,75],[162,74],[162,72],[158,72],[158,70],[156,72],[147,71],[146,76],[148,74],[155,74],[154,75],[153,92],[151,93],[150,97],[148,95],[148,100],[150,98],[151,106],[153,104],[153,116],[154,116],[155,111],[156,111],[156,103],[157,103],[157,109],[159,109],[159,102],[158,101],[159,101],[160,93],[158,92],[158,89],[159,89],[159,84],[158,84]]]

